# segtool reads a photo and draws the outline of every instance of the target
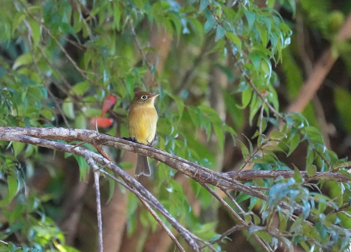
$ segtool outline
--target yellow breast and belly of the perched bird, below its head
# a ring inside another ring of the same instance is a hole
[[[135,137],[139,143],[152,143],[156,133],[157,111],[152,106],[135,106],[128,114],[129,136]]]

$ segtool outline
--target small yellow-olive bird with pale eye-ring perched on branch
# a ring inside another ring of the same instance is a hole
[[[152,146],[156,133],[158,115],[154,102],[158,95],[145,91],[135,92],[128,112],[129,137],[149,146]],[[138,154],[135,176],[141,174],[150,176],[151,170],[147,157]]]

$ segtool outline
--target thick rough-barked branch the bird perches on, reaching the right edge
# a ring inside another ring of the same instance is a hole
[[[99,134],[97,137],[97,132],[92,130],[81,130],[81,129],[65,129],[65,128],[24,128],[24,127],[0,127],[0,134],[13,134],[13,135],[24,135],[38,137],[41,139],[54,139],[54,140],[64,140],[64,141],[81,141],[81,142],[91,142],[94,139],[95,144],[106,145],[114,147],[121,150],[127,150],[139,154],[146,155],[148,157],[154,158],[161,161],[171,168],[184,173],[185,175],[193,178],[195,181],[211,184],[211,185],[221,185],[225,188],[237,190],[237,184],[231,184],[232,178],[236,175],[236,171],[216,173],[210,169],[207,169],[201,165],[195,164],[193,162],[187,161],[178,156],[169,154],[166,151],[159,150],[153,147],[148,147],[144,144],[132,143],[130,141],[124,140],[122,138],[113,137],[110,135]],[[189,171],[187,171],[187,168]],[[201,170],[201,171],[198,171]],[[323,172],[317,172],[316,176]],[[307,172],[300,171],[303,178],[309,179]],[[237,181],[248,181],[251,179],[264,179],[264,178],[278,178],[282,176],[284,178],[290,178],[294,175],[294,171],[289,170],[278,170],[278,171],[242,171],[236,177]],[[336,181],[343,183],[351,183],[350,179],[337,172],[331,172],[318,177],[316,180],[323,181]],[[239,184],[242,186],[241,184]],[[245,187],[246,190],[252,191],[248,186]],[[241,191],[241,190],[238,190]],[[250,193],[249,193],[250,194]],[[251,195],[251,194],[250,194]],[[258,196],[258,195],[252,195]],[[258,198],[264,195],[259,195]]]

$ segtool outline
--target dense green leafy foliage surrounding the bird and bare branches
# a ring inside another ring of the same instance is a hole
[[[100,131],[127,136],[128,104],[140,88],[160,93],[154,145],[171,154],[219,172],[292,169],[313,177],[333,169],[347,175],[351,52],[349,41],[336,38],[350,1],[1,5],[0,126],[94,129],[91,118],[115,94],[116,104],[104,115],[114,123]],[[279,114],[329,47],[337,60],[317,95],[302,114]],[[95,251],[94,189],[84,159],[0,144],[0,239],[9,242],[0,250]],[[133,174],[135,156],[106,151]],[[152,177],[140,181],[191,232],[211,240],[237,224],[201,185],[151,164]],[[232,192],[243,218],[267,229],[234,232],[217,249],[261,251],[255,233],[278,250],[291,243],[297,251],[344,250],[350,186],[310,182],[296,172],[290,179],[246,183],[270,188],[264,191],[267,202]],[[101,183],[104,251],[174,250],[134,195],[108,179]],[[293,209],[284,212],[280,200],[299,205],[304,214],[293,219]],[[306,222],[310,213],[314,225]]]

